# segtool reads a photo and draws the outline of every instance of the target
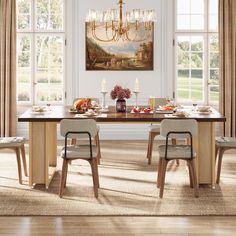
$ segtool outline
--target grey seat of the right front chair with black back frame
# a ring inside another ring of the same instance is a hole
[[[158,147],[160,158],[165,158],[165,145]],[[186,145],[169,145],[167,150],[168,159],[190,159],[191,147]],[[193,157],[196,157],[196,152],[193,151]]]

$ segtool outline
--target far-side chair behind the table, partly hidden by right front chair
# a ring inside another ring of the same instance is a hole
[[[168,100],[166,98],[155,98],[155,109],[159,106],[166,105]],[[152,151],[153,151],[153,143],[154,139],[157,135],[160,135],[160,124],[151,124],[148,127],[149,138],[148,138],[148,148],[147,148],[147,159],[148,165],[151,165],[152,162]],[[176,144],[176,140],[172,139],[172,144]],[[176,160],[177,165],[179,165],[179,160]]]

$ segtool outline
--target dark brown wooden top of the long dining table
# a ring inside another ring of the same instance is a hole
[[[131,113],[132,107],[127,109],[126,113],[117,113],[115,107],[109,107],[107,113],[101,113],[97,116],[86,117],[80,114],[70,112],[70,106],[51,106],[47,112],[32,112],[28,109],[19,118],[19,122],[60,122],[62,119],[95,119],[99,123],[154,123],[163,119],[196,119],[198,122],[225,122],[226,118],[215,109],[211,108],[210,113],[200,113],[192,110],[192,107],[184,107],[189,116],[186,118],[175,117],[172,114],[163,113]]]

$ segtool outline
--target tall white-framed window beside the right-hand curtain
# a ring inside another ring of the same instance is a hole
[[[176,98],[219,101],[218,0],[176,0]]]

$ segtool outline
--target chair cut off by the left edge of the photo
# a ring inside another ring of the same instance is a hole
[[[23,162],[24,174],[25,176],[28,176],[24,144],[25,144],[25,138],[23,137],[0,137],[0,149],[11,149],[16,153],[16,161],[17,161],[20,184],[22,184],[21,158]]]

